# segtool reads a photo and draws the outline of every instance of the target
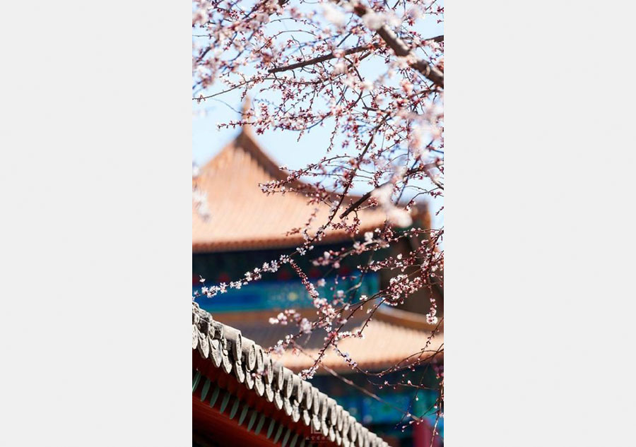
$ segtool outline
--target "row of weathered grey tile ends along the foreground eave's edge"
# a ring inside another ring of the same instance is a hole
[[[293,422],[322,431],[323,436],[341,446],[389,447],[386,441],[363,427],[310,382],[274,362],[271,356],[241,331],[215,321],[213,316],[192,302],[192,349],[209,359],[225,374],[233,373],[237,381],[257,395],[284,410]],[[193,392],[196,386],[193,386]],[[356,443],[357,441],[357,443]]]

